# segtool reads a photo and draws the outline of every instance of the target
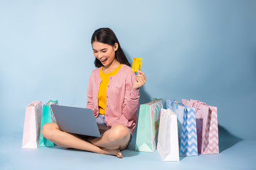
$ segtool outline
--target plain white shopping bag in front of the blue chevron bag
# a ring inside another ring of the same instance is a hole
[[[161,109],[157,151],[163,161],[179,161],[177,116]]]

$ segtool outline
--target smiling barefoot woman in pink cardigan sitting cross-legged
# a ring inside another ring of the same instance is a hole
[[[42,134],[56,145],[100,154],[113,154],[119,158],[132,140],[137,123],[139,88],[146,83],[143,72],[137,75],[110,28],[100,28],[92,35],[95,67],[87,89],[87,108],[95,113],[97,123],[105,125],[102,137],[84,139],[63,132],[57,123],[43,125]]]

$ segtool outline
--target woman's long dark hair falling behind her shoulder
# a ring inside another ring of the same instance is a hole
[[[127,64],[129,67],[131,67],[131,64],[129,64],[127,57],[124,55],[124,52],[121,48],[121,45],[119,44],[119,41],[117,40],[117,36],[114,34],[114,32],[110,28],[99,28],[95,30],[95,32],[92,34],[92,42],[102,42],[108,45],[114,46],[114,43],[117,42],[118,49],[115,51],[114,57],[116,58],[117,62],[120,64]],[[102,67],[103,64],[95,58],[95,67],[99,68]]]

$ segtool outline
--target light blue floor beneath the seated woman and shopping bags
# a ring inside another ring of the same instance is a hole
[[[21,149],[22,133],[1,136],[0,169],[256,169],[256,141],[241,140],[220,128],[220,154],[163,162],[159,153],[135,152],[134,139],[123,159],[61,147]]]

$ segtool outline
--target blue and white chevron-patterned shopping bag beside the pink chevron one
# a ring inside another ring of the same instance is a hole
[[[166,108],[177,115],[180,156],[198,156],[195,108],[171,100],[166,100]]]

